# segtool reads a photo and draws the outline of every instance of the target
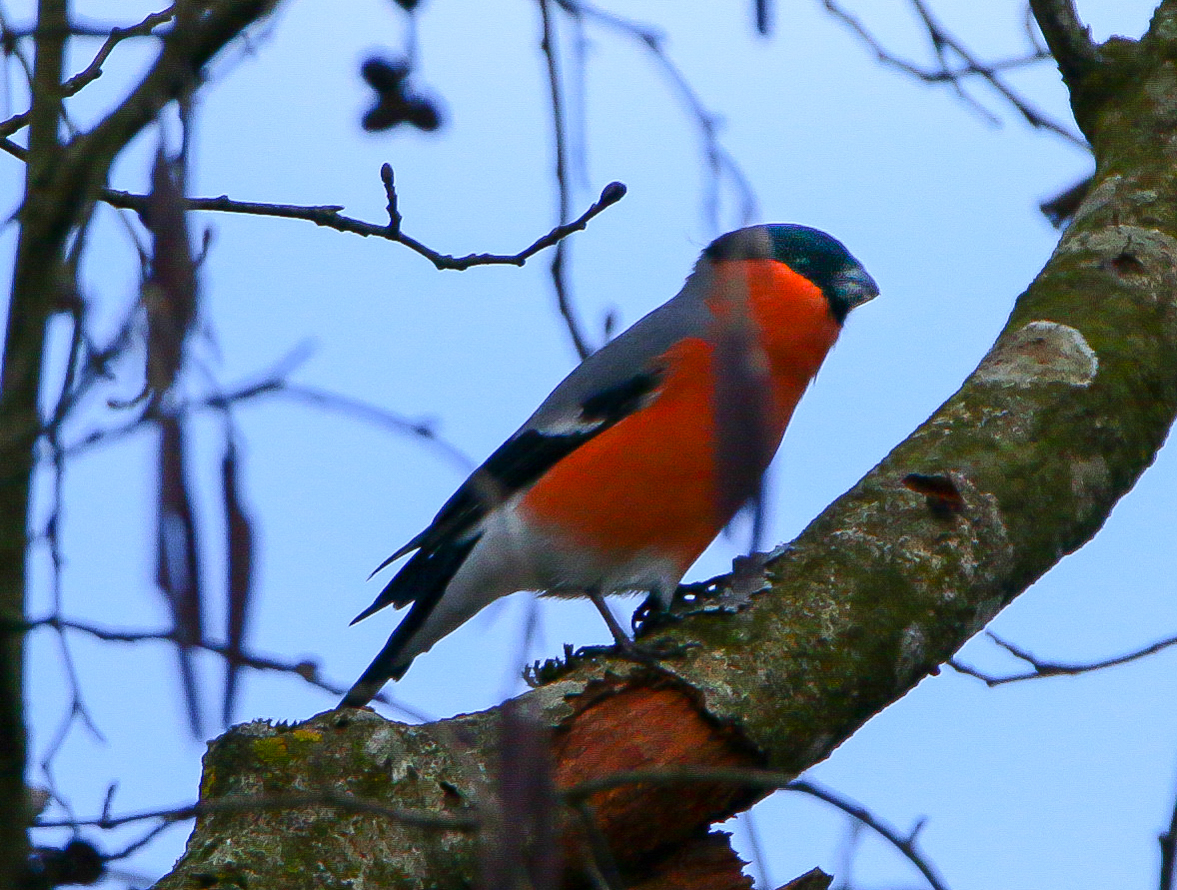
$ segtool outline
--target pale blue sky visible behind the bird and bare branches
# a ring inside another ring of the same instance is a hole
[[[109,4],[78,6],[102,21],[111,14]],[[119,6],[120,21],[151,11],[131,0]],[[1088,173],[1090,160],[1028,128],[982,86],[971,94],[1000,126],[950,88],[882,68],[819,4],[778,2],[769,40],[752,34],[750,6],[651,0],[617,11],[665,32],[667,53],[722,117],[722,141],[756,191],[754,221],[831,232],[882,288],[852,317],[786,437],[772,472],[776,542],[799,532],[976,366],[1057,241],[1037,202]],[[986,58],[1024,51],[1018,4],[940,6],[955,32]],[[1138,35],[1151,6],[1079,4],[1098,39]],[[896,52],[929,61],[905,4],[864,0],[852,8]],[[14,21],[27,20],[24,4],[5,9]],[[338,4],[287,2],[248,49],[237,45],[213,66],[198,102],[191,190],[341,204],[352,215],[380,221],[378,170],[388,161],[406,232],[444,252],[519,250],[554,221],[538,22],[531,2],[427,0],[419,14],[418,77],[444,102],[447,125],[431,135],[370,135],[358,127],[368,101],[358,67],[373,52],[394,54],[403,46],[404,16],[387,1],[353,0],[346,13]],[[611,32],[588,27],[586,36],[585,164],[573,205],[587,206],[611,180],[630,188],[572,240],[576,305],[600,343],[607,313],[625,326],[670,298],[699,250],[743,220],[731,200],[723,204],[719,231],[704,219],[697,132],[650,58]],[[77,102],[78,121],[93,120],[122,94],[149,58],[146,44],[121,49]],[[81,67],[84,54],[72,64]],[[18,69],[9,62],[7,71],[11,106],[20,109]],[[1051,65],[1011,79],[1050,114],[1068,119]],[[112,185],[144,186],[153,139],[126,154]],[[9,206],[21,175],[16,161],[0,161],[0,194],[9,195]],[[187,381],[192,393],[211,380],[252,379],[310,341],[295,381],[433,418],[477,460],[574,365],[553,310],[546,257],[521,270],[437,272],[400,246],[305,222],[208,214],[195,225],[211,227],[214,240],[202,266],[206,336],[197,345],[202,370]],[[0,231],[6,255],[13,240],[12,226]],[[137,260],[109,212],[92,244],[84,290],[94,324],[109,332],[135,299]],[[67,331],[56,333],[60,339]],[[74,434],[89,424],[119,423],[104,400],[133,396],[141,384],[133,360],[119,370]],[[235,420],[245,492],[259,523],[253,646],[287,658],[313,656],[325,675],[350,683],[394,620],[381,615],[347,626],[378,590],[367,573],[428,522],[461,472],[417,440],[282,397],[244,405]],[[211,485],[224,427],[202,417],[194,432],[202,483],[197,509],[218,527]],[[995,631],[1039,655],[1076,660],[1172,632],[1177,533],[1168,520],[1177,458],[1170,452],[1096,540],[1003,612]],[[62,530],[68,615],[105,625],[165,624],[152,587],[153,454],[154,434],[145,431],[71,465]],[[46,504],[42,497],[41,517]],[[689,578],[725,571],[740,543],[720,539]],[[206,545],[206,573],[218,583],[224,566],[215,534]],[[44,549],[34,547],[34,615],[47,609],[47,572]],[[517,691],[528,603],[521,595],[486,610],[420,658],[394,693],[445,716]],[[607,638],[591,606],[544,603],[540,615],[531,658],[553,655],[564,642]],[[114,779],[118,812],[192,799],[202,745],[185,736],[172,653],[71,639],[87,704],[107,738],[99,744],[75,729],[54,761],[79,813],[97,813]],[[995,670],[1015,666],[980,639],[963,657]],[[1149,886],[1156,836],[1177,790],[1177,718],[1161,704],[1177,686],[1173,657],[997,690],[944,671],[812,775],[899,826],[926,816],[923,848],[955,890]],[[213,715],[220,665],[208,658],[200,668]],[[67,703],[55,642],[34,637],[34,751],[44,752]],[[248,675],[238,719],[298,720],[333,704],[295,678]],[[33,781],[41,781],[35,766]],[[790,796],[762,804],[757,815],[773,885],[813,865],[839,870],[842,816]],[[184,835],[173,830],[128,870],[166,870]],[[920,884],[870,837],[855,876],[865,886]]]

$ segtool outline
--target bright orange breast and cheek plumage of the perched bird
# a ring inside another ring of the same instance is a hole
[[[746,313],[762,334],[774,450],[838,325],[818,288],[779,263],[725,263],[717,272],[726,294],[712,306],[717,325]],[[685,572],[731,519],[716,497],[714,336],[671,347],[657,399],[548,470],[523,499],[528,518],[568,544],[618,559],[658,553]]]

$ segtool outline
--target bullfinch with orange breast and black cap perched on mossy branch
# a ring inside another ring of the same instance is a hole
[[[346,693],[361,708],[413,659],[520,590],[647,592],[683,576],[757,497],[849,312],[878,285],[833,237],[796,224],[720,235],[676,297],[590,354],[378,566],[408,560],[352,624],[410,606]],[[610,629],[618,642],[624,631]],[[620,635],[620,636],[619,636]]]

